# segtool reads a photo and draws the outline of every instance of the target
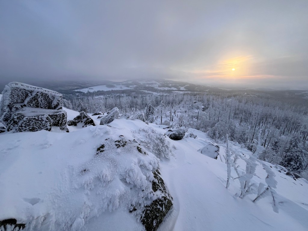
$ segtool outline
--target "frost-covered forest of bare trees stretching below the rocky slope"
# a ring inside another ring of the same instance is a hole
[[[258,158],[280,164],[308,178],[308,105],[270,97],[265,93],[249,95],[229,92],[181,92],[161,94],[109,94],[100,92],[64,95],[64,107],[75,111],[145,112],[155,108],[156,124],[171,128],[195,128],[217,143],[226,134],[233,142],[255,152]],[[146,118],[151,119],[151,118]]]

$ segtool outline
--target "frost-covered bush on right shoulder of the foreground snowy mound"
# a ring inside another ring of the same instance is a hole
[[[158,158],[170,158],[173,155],[170,142],[163,134],[156,132],[152,128],[140,128],[134,131],[136,140],[142,146],[150,150]]]

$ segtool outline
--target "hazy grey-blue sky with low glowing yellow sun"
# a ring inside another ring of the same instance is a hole
[[[0,81],[308,89],[307,0],[0,1]]]

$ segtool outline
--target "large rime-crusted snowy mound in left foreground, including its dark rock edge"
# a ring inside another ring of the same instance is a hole
[[[2,138],[0,221],[22,221],[25,230],[83,230],[93,217],[124,210],[156,230],[172,208],[159,159],[129,129],[108,125]]]

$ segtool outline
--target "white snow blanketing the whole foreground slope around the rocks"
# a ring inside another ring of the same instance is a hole
[[[63,109],[68,120],[79,115]],[[91,116],[99,124],[100,119],[96,117]],[[130,140],[144,139],[151,130],[161,135],[166,132],[164,125],[147,125],[140,120],[116,119],[109,125],[70,126],[69,133],[39,131],[0,135],[0,221],[16,218],[22,223],[32,219],[26,230],[144,230],[127,209],[140,195],[130,192],[120,176],[129,173],[128,181],[142,188],[147,185],[145,179],[151,178],[151,169],[159,164],[174,199],[174,208],[159,231],[308,230],[306,180],[294,180],[278,172],[275,165],[263,162],[268,168],[272,166],[270,169],[278,182],[275,191],[279,212],[275,213],[269,196],[256,203],[252,200],[257,193],[243,199],[234,196],[240,193],[240,183],[233,168],[233,178],[226,189],[225,145],[219,144],[217,160],[197,152],[212,140],[195,129],[189,132],[197,135],[196,139],[185,136],[175,141],[165,137],[166,143],[173,147],[173,155],[168,158],[158,159],[146,147],[149,155],[142,160],[138,160],[135,152],[124,155],[110,150],[110,159],[95,161],[96,148],[107,138],[118,139],[123,135]],[[236,144],[231,145],[231,152],[242,158],[251,155]],[[244,172],[245,161],[239,159],[237,164],[239,172]],[[84,169],[87,169],[85,173]],[[264,166],[257,163],[251,182],[267,185],[266,176]],[[47,225],[40,227],[45,219],[43,223]]]

